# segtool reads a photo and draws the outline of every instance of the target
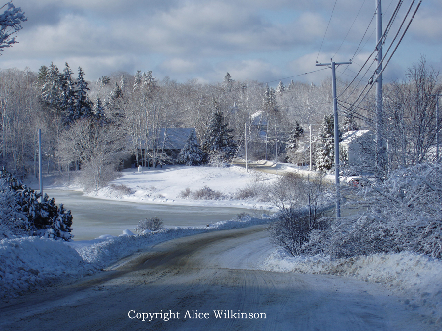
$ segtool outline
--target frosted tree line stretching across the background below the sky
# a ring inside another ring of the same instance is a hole
[[[345,84],[338,81],[338,91]],[[438,73],[424,57],[408,69],[404,81],[384,84],[385,148],[375,155],[378,149],[371,144],[363,147],[378,171],[388,174],[435,160],[440,92]],[[339,97],[342,110],[355,94],[347,89]],[[229,73],[213,84],[157,80],[151,71],[113,73],[89,82],[82,68],[74,75],[67,63],[63,70],[51,63],[37,73],[6,69],[0,71],[0,164],[22,178],[36,176],[40,128],[44,170],[68,174],[82,168],[98,188],[130,155],[135,165],[176,162],[165,153],[166,137],[160,135],[168,128],[192,128],[195,136],[189,139],[204,153],[200,162],[243,156],[247,136],[248,155],[255,160],[309,163],[310,155],[297,154],[297,149],[311,142],[314,164],[327,171],[334,162],[331,113],[330,79],[319,85],[291,81],[285,86],[281,81],[274,89],[234,80]],[[374,132],[374,113],[369,96],[350,114],[340,113],[339,126],[343,132]]]

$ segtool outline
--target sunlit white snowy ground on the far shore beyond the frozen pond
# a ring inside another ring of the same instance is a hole
[[[281,167],[281,166],[280,166]],[[267,204],[256,200],[237,200],[235,195],[238,189],[250,183],[271,183],[276,179],[275,174],[257,172],[240,166],[225,168],[216,167],[187,167],[163,166],[163,168],[146,168],[141,172],[138,169],[125,169],[122,176],[113,180],[109,186],[97,191],[87,193],[88,196],[102,199],[112,199],[130,202],[153,204],[183,205],[183,206],[225,206],[241,208],[267,207]],[[118,187],[124,185],[132,190],[127,194]],[[183,199],[180,192],[189,188],[192,192],[209,187],[219,191],[224,196],[220,200],[195,200]],[[50,189],[76,189],[79,186],[51,185]]]

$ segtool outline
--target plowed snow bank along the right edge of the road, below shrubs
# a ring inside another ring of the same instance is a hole
[[[352,258],[293,257],[275,251],[261,265],[263,270],[331,274],[382,283],[402,298],[409,309],[418,309],[442,324],[442,261],[412,252],[362,255]]]

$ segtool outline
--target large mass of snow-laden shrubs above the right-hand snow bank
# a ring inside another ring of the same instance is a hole
[[[400,169],[354,189],[356,214],[312,233],[309,254],[351,257],[414,251],[442,258],[442,165]]]

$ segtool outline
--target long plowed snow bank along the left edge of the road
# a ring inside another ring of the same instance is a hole
[[[92,274],[140,249],[169,239],[221,229],[264,224],[268,218],[235,217],[206,228],[161,229],[142,235],[103,235],[90,241],[61,242],[26,237],[0,241],[0,298],[14,297],[59,280]]]

